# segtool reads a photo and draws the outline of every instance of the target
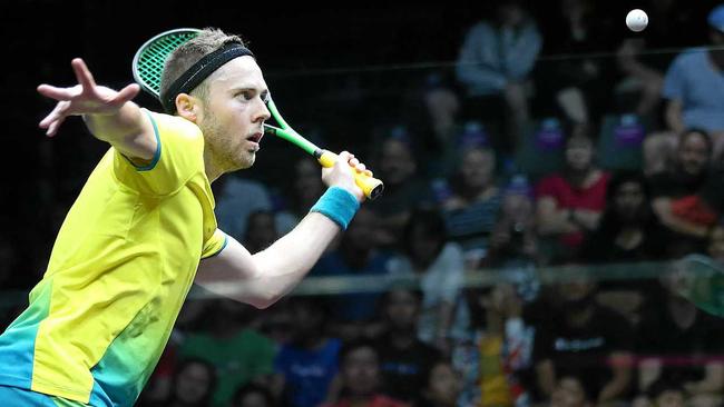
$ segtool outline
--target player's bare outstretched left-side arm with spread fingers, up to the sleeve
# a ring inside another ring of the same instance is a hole
[[[56,108],[40,121],[49,137],[58,132],[69,116],[82,116],[90,132],[114,146],[134,161],[147,161],[156,152],[156,138],[150,121],[131,99],[138,95],[138,85],[116,91],[96,85],[90,70],[80,58],[71,62],[78,85],[57,88],[40,85],[38,92],[58,100]]]

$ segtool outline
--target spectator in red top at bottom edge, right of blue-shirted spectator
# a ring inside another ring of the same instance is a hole
[[[358,339],[344,345],[340,353],[342,390],[336,401],[325,407],[404,407],[380,391],[380,357],[374,343]]]

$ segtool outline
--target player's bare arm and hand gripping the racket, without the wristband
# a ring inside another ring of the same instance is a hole
[[[354,198],[350,196],[348,205],[355,210],[364,195],[354,183],[350,166],[365,170],[354,156],[342,152],[334,167],[323,169],[322,178],[327,186],[350,192]],[[255,255],[229,237],[218,256],[202,261],[196,282],[212,292],[266,308],[306,276],[341,230],[330,217],[312,211],[291,232]]]

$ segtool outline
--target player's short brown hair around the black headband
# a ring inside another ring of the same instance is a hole
[[[238,43],[242,47],[246,47],[246,43],[239,36],[227,34],[217,28],[209,27],[178,47],[164,63],[164,72],[160,77],[160,95],[165,95],[174,81],[184,75],[194,63],[198,62],[199,59],[227,43]],[[192,91],[204,99],[206,89],[207,83],[204,80]]]

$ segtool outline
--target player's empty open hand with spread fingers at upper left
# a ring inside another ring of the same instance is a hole
[[[76,58],[70,64],[76,73],[78,85],[57,88],[43,83],[38,87],[40,95],[58,100],[56,108],[39,125],[40,128],[47,129],[48,137],[58,132],[58,128],[68,116],[114,115],[140,91],[140,87],[135,83],[120,91],[97,86],[82,59]]]

